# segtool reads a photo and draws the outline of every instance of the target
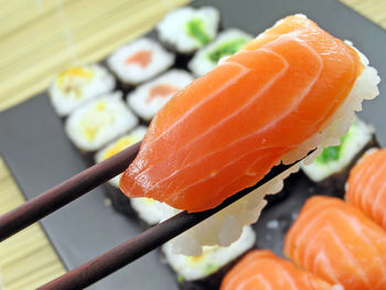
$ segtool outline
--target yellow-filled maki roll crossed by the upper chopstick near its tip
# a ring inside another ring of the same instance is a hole
[[[126,148],[141,141],[147,129],[148,128],[144,126],[139,126],[135,128],[130,133],[124,135],[122,137],[112,141],[95,154],[95,161],[97,163],[101,162],[119,153]],[[114,179],[108,181],[108,184],[105,185],[105,195],[109,200],[109,204],[111,204],[117,212],[128,217],[135,217],[137,216],[137,214],[130,205],[130,198],[122,196],[122,194],[120,194],[120,192],[117,189],[119,186],[119,176],[120,175],[115,176]]]

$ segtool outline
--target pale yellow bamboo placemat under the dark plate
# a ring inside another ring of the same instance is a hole
[[[341,0],[386,29],[386,0]],[[71,64],[104,58],[189,0],[0,0],[0,110],[47,87]],[[7,138],[1,136],[0,138]],[[0,215],[24,201],[0,158]],[[0,244],[7,290],[65,271],[39,225]]]

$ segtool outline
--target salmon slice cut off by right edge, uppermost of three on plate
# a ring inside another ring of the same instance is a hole
[[[386,230],[386,149],[372,151],[351,170],[345,198]]]

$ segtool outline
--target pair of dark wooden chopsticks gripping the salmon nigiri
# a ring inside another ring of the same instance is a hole
[[[139,147],[140,142],[88,168],[1,216],[0,241],[124,172],[136,158]],[[298,162],[299,161],[293,164]],[[255,189],[285,172],[293,164],[280,164],[275,167],[256,185],[232,195],[215,208],[191,214],[186,212],[179,213],[168,221],[151,227],[135,238],[64,273],[39,289],[82,289],[90,286],[238,201]]]

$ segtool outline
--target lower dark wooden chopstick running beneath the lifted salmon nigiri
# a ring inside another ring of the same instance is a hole
[[[189,214],[182,212],[176,214],[168,221],[149,228],[135,238],[64,273],[39,289],[68,290],[88,287],[238,201],[298,162],[299,161],[289,165],[280,164],[272,168],[272,170],[256,185],[232,195],[215,208],[200,213]]]

